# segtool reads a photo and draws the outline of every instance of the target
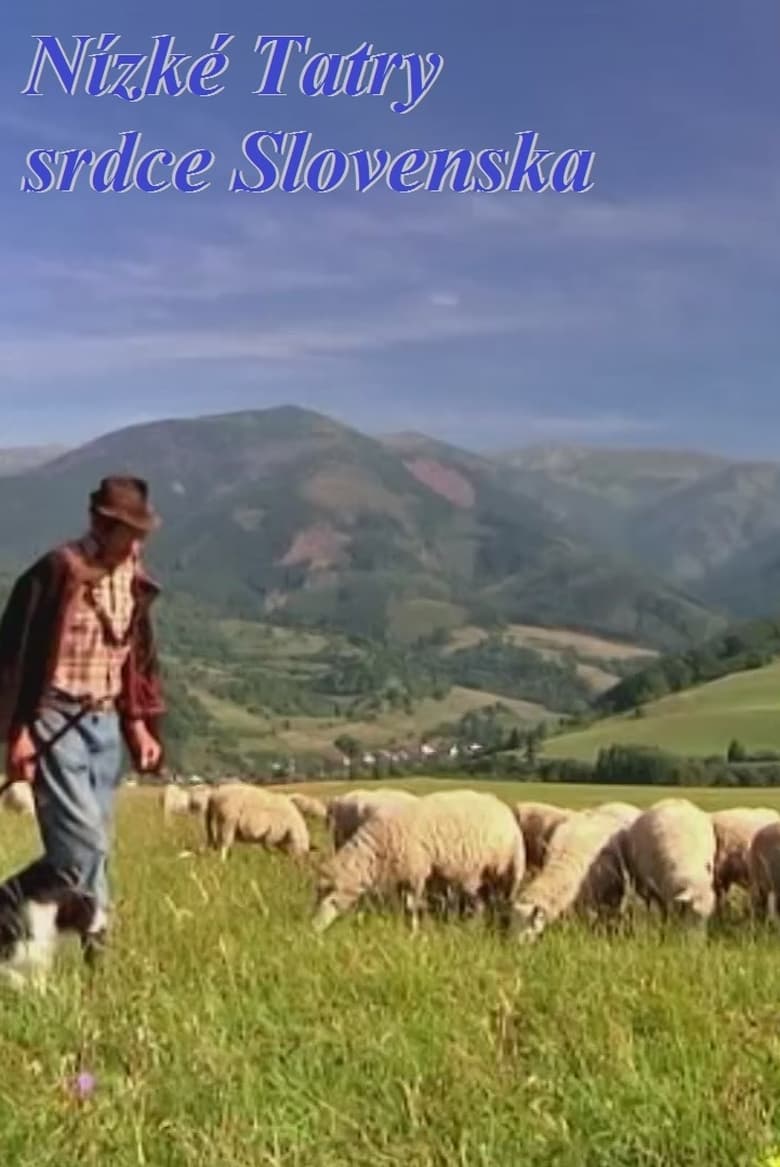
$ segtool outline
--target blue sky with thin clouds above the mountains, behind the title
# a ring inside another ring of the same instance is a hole
[[[0,445],[293,401],[474,447],[564,440],[780,455],[775,0],[183,0],[9,6],[0,42]],[[206,6],[203,6],[206,7]],[[216,13],[216,8],[211,12]],[[214,98],[21,95],[34,34],[235,34]],[[258,35],[439,51],[404,93],[258,97]],[[20,191],[35,147],[216,152],[197,195]],[[596,151],[586,194],[231,195],[253,130],[315,148]],[[8,230],[9,229],[9,230]]]

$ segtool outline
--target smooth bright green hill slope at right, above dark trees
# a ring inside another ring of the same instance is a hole
[[[724,754],[734,738],[748,749],[780,750],[780,662],[664,697],[648,705],[642,718],[608,718],[551,738],[544,753],[591,760],[619,743],[705,757]]]

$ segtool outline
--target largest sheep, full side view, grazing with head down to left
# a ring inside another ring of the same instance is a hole
[[[365,894],[399,892],[415,934],[432,885],[496,908],[511,902],[524,869],[523,836],[501,799],[473,790],[424,795],[371,815],[330,857],[313,927],[325,931]]]

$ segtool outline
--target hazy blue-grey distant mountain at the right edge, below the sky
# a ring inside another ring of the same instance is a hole
[[[521,497],[701,602],[738,617],[780,608],[780,463],[571,446],[494,460]]]

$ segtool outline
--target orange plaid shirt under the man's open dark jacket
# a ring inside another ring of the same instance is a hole
[[[96,546],[90,536],[75,550],[92,561]],[[130,559],[106,572],[91,588],[85,586],[65,617],[60,655],[51,679],[53,687],[68,697],[90,697],[112,703],[121,693],[121,670],[130,644],[127,630],[133,615],[135,560]],[[90,603],[90,593],[92,603]],[[113,645],[93,605],[103,609],[119,642]]]

